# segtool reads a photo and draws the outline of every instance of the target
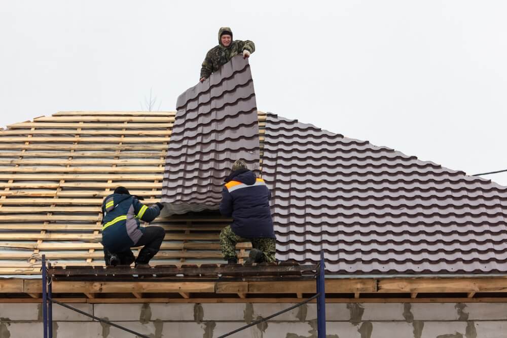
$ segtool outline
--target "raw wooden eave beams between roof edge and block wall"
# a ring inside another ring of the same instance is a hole
[[[412,279],[411,279],[412,280]],[[357,279],[327,279],[325,281],[326,302],[328,303],[459,303],[459,302],[507,302],[506,278],[419,278],[417,285],[423,293],[407,291],[407,280],[393,278],[395,283],[386,289],[375,285],[386,283],[386,279],[364,278],[358,284]],[[415,281],[413,281],[415,283]],[[244,303],[244,302],[299,302],[303,295],[309,297],[315,293],[315,281],[59,281],[53,280],[53,294],[82,294],[86,302],[95,303],[138,303],[158,302],[165,299],[168,303]],[[396,284],[397,283],[397,284]],[[459,288],[450,289],[455,283]],[[393,285],[398,285],[394,287]],[[493,286],[496,285],[496,286]],[[360,286],[360,288],[358,288]],[[475,288],[476,291],[470,291]],[[0,303],[11,302],[12,294],[25,294],[25,301],[40,299],[41,280],[11,279],[0,280]],[[425,295],[429,293],[430,295]],[[128,296],[130,294],[130,296]],[[167,296],[162,296],[166,294]],[[175,296],[179,294],[179,296]],[[401,294],[406,294],[401,297]],[[442,294],[442,296],[439,296]],[[464,296],[464,294],[466,296]],[[481,296],[478,296],[480,294]],[[494,294],[494,297],[488,294]],[[100,296],[99,296],[100,295]],[[156,295],[156,297],[152,296]],[[295,297],[296,296],[296,297]],[[119,301],[122,297],[123,300]],[[158,300],[157,300],[158,299]],[[262,299],[262,301],[261,301]],[[299,299],[299,301],[297,301]]]

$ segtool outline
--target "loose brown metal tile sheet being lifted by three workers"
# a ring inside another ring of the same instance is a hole
[[[176,105],[162,202],[169,213],[218,209],[232,163],[244,159],[249,167],[259,167],[257,103],[248,59],[234,57],[180,95]]]

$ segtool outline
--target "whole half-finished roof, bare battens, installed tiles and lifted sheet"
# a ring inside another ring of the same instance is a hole
[[[178,112],[67,111],[0,132],[0,274],[103,265],[102,199],[123,185],[173,212],[153,265],[219,264],[231,163],[272,191],[277,258],[337,275],[507,272],[507,188],[368,141],[257,111],[236,57]],[[225,109],[224,107],[227,107]],[[164,183],[162,182],[164,180]],[[179,209],[178,209],[179,208]],[[237,246],[240,262],[249,243]]]

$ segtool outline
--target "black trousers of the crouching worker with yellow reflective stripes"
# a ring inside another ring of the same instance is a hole
[[[137,259],[130,249],[121,252],[110,252],[104,247],[105,264],[109,265],[112,253],[115,253],[118,256],[121,265],[131,265],[134,261],[137,264],[148,264],[150,259],[152,259],[159,251],[160,245],[164,240],[164,236],[164,228],[155,226],[146,227],[144,228],[144,234],[142,234],[141,238],[139,238],[137,243],[134,245],[135,247],[144,246],[141,251],[139,251]]]

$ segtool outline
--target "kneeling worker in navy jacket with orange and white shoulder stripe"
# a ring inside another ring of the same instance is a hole
[[[243,160],[232,165],[232,171],[222,189],[220,212],[232,216],[232,224],[220,233],[220,248],[229,264],[236,264],[236,243],[251,242],[252,249],[246,264],[275,261],[276,237],[269,200],[269,191],[263,179],[248,170]]]

